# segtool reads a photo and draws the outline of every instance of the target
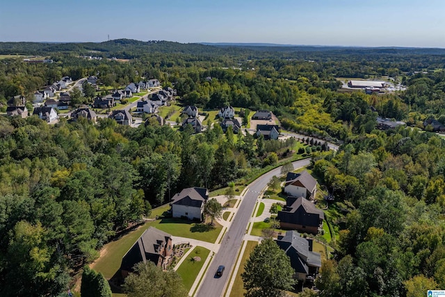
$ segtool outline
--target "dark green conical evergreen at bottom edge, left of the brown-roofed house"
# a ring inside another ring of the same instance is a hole
[[[88,265],[83,267],[81,296],[82,297],[111,297],[110,284],[102,273],[96,272]]]

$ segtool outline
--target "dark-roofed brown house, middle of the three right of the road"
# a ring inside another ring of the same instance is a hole
[[[278,211],[277,220],[284,229],[295,229],[300,232],[317,234],[318,228],[323,227],[325,214],[321,209],[306,198],[286,199],[286,207]]]

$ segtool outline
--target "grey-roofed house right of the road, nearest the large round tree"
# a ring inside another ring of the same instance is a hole
[[[287,231],[284,236],[278,236],[277,245],[291,259],[295,271],[294,278],[300,282],[314,282],[318,269],[321,267],[321,255],[313,252],[313,240],[303,238],[294,230]]]

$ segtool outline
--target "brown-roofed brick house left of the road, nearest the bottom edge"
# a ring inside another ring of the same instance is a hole
[[[123,278],[126,278],[133,267],[147,261],[153,262],[156,266],[166,269],[172,264],[172,236],[155,227],[149,227],[131,246],[122,257],[120,271]]]

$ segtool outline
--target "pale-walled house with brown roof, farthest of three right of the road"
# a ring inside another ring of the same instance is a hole
[[[317,181],[306,170],[300,173],[289,172],[286,176],[284,193],[292,197],[314,200],[317,193]]]

